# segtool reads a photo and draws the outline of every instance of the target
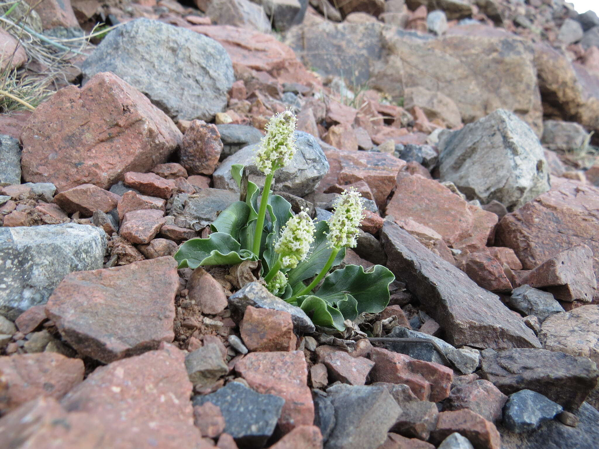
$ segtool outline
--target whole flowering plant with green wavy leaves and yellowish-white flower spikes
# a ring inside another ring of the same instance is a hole
[[[386,307],[394,275],[381,265],[367,271],[346,265],[329,273],[341,264],[345,249],[356,246],[363,212],[358,192],[343,192],[331,219],[318,223],[306,211],[294,215],[285,198],[272,195],[274,172],[295,154],[294,129],[291,112],[277,114],[258,145],[254,162],[266,175],[260,202],[260,189],[244,175],[244,166],[233,165],[231,175],[240,187],[240,201],[220,213],[207,238],[184,242],[175,259],[179,268],[260,260],[271,293],[301,307],[314,324],[343,331],[347,320]]]

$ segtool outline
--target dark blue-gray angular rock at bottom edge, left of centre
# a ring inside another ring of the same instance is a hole
[[[285,399],[261,395],[239,382],[229,382],[210,395],[193,398],[193,405],[206,402],[220,407],[225,418],[225,432],[240,447],[261,448],[274,432]]]

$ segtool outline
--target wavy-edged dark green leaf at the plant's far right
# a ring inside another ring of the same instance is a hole
[[[361,265],[347,265],[325,277],[315,294],[329,304],[338,304],[347,301],[347,296],[353,296],[358,314],[377,313],[389,304],[389,284],[394,279],[393,273],[382,265],[375,265],[369,272],[364,272]]]

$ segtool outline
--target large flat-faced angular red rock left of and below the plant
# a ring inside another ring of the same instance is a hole
[[[110,363],[173,341],[173,257],[66,275],[46,305],[47,316],[79,353]]]

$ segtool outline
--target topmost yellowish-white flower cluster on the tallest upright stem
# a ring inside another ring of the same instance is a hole
[[[266,126],[266,135],[256,148],[254,162],[265,175],[291,162],[295,154],[295,115],[291,111],[276,114]]]

